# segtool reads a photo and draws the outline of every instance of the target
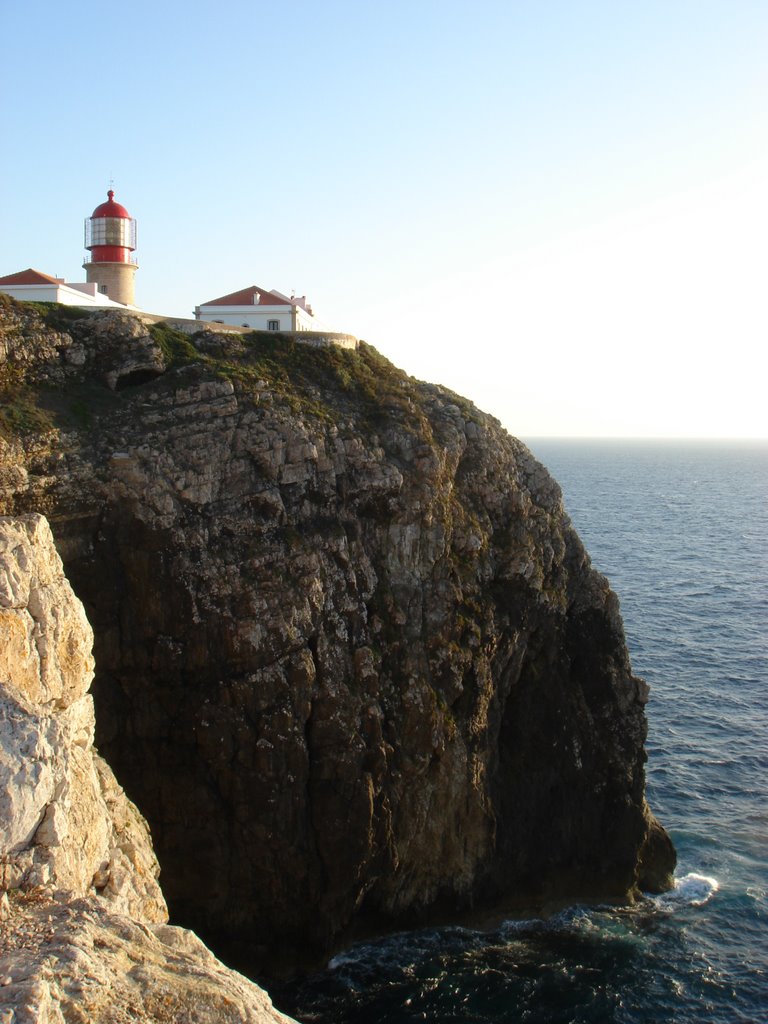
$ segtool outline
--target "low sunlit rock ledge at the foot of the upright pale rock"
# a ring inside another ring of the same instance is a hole
[[[0,921],[3,1024],[291,1024],[191,932],[94,898],[10,902]]]

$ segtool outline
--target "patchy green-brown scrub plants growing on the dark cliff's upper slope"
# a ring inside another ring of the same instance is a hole
[[[0,372],[3,408],[0,429],[6,434],[39,432],[50,429],[53,424],[63,429],[78,425],[89,427],[104,407],[105,396],[99,400],[91,388],[76,394],[84,385],[97,382],[100,377],[103,387],[119,391],[129,386],[160,383],[158,378],[164,372],[193,366],[231,380],[242,393],[257,395],[268,389],[275,399],[288,403],[295,413],[332,422],[337,422],[340,415],[350,415],[359,419],[360,426],[368,424],[372,429],[393,419],[403,425],[416,420],[428,433],[414,382],[365,342],[357,350],[349,350],[333,345],[315,347],[295,336],[267,331],[244,335],[201,332],[190,337],[160,322],[141,330],[143,341],[133,332],[130,340],[138,352],[121,351],[121,346],[114,343],[99,351],[103,313],[53,303],[16,303],[7,296],[0,296],[0,300],[6,316],[12,322],[4,326],[6,335],[22,330],[28,335],[41,335],[50,329],[62,336],[67,333],[70,341],[86,348],[86,357],[81,364],[61,364],[59,359],[57,372],[51,372],[51,367],[47,366],[41,374],[39,364],[24,359],[3,366]],[[120,324],[119,316],[114,321]],[[55,341],[53,347],[56,347]],[[59,347],[66,347],[66,343]],[[111,368],[131,359],[141,364],[142,356],[146,362],[153,347],[158,352],[154,367],[143,372],[139,368],[133,379],[128,368],[116,381],[108,383]],[[173,382],[173,378],[168,380],[171,386]],[[74,395],[74,404],[60,400],[65,392]],[[469,403],[458,396],[456,400],[465,404],[467,414],[471,415]],[[114,398],[106,404],[117,401]]]

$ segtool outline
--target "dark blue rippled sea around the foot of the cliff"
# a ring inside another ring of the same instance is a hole
[[[768,442],[529,440],[651,686],[648,799],[674,891],[348,949],[304,1024],[768,1022]]]

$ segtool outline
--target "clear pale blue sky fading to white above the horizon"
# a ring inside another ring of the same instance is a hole
[[[537,436],[768,437],[765,0],[0,0],[0,274],[249,285]]]

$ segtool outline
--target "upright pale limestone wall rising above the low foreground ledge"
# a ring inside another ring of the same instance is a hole
[[[92,643],[46,520],[0,518],[3,888],[97,891],[166,921],[146,824],[93,750]]]

